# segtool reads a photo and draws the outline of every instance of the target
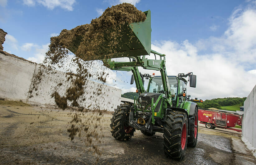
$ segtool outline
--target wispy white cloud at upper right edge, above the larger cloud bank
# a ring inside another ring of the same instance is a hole
[[[230,16],[229,27],[221,37],[197,42],[198,51],[212,50],[241,64],[256,61],[256,8],[236,9]]]

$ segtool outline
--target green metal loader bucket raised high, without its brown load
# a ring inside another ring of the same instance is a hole
[[[144,22],[134,22],[130,25],[121,26],[121,30],[118,32],[120,34],[118,36],[121,37],[117,38],[114,53],[109,48],[112,43],[107,39],[107,32],[104,32],[105,36],[102,38],[102,44],[97,47],[97,50],[94,50],[96,55],[77,53],[82,36],[78,36],[73,46],[68,49],[84,61],[148,55],[151,51],[151,12],[148,10],[144,13],[146,14]],[[111,47],[113,47],[113,44]]]

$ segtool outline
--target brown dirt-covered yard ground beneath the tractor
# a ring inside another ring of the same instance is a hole
[[[130,141],[115,140],[110,133],[111,115],[104,114],[98,129],[104,137],[98,158],[83,137],[70,141],[69,110],[0,105],[0,164],[255,164],[241,133],[199,126],[195,148],[187,148],[183,161],[168,159],[163,135],[136,131]],[[95,113],[88,113],[93,116]],[[96,123],[88,123],[94,125]]]

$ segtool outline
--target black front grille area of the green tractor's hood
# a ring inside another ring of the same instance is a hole
[[[152,98],[154,98],[154,103],[155,103],[159,95],[160,95],[159,93],[149,93],[149,92],[140,94],[139,103],[142,106],[142,110],[145,110],[146,106],[151,104]]]

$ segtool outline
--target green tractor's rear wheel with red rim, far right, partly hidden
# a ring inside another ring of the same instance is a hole
[[[190,118],[190,117],[189,117]],[[197,131],[198,131],[198,110],[195,108],[195,114],[190,118],[189,135],[187,139],[187,146],[196,147],[197,145]]]

